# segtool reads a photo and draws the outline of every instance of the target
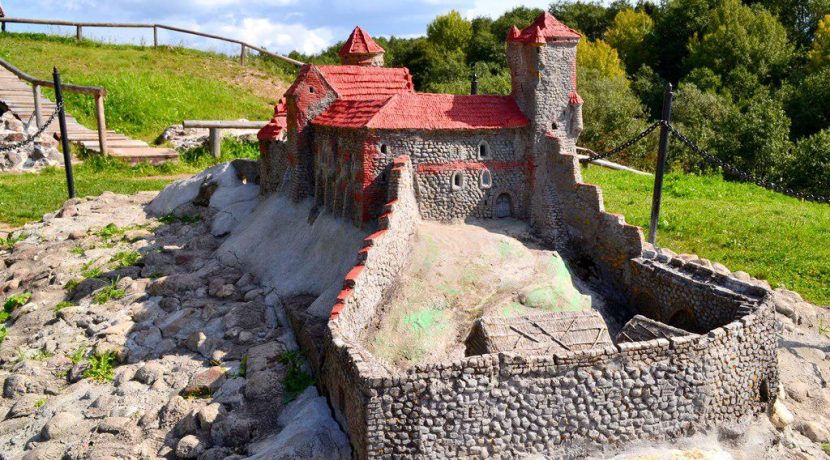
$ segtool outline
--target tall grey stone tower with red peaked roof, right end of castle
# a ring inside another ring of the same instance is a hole
[[[550,13],[507,36],[512,95],[530,119],[538,152],[545,136],[572,152],[582,131],[582,98],[576,91],[576,45],[581,35]]]

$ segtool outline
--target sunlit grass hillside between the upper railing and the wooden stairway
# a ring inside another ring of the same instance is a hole
[[[107,89],[107,125],[145,141],[184,119],[266,120],[290,71],[267,59],[242,66],[220,54],[173,47],[109,45],[43,34],[0,35],[0,57],[38,78]],[[51,91],[44,95],[54,100]],[[66,94],[68,111],[95,128],[90,96]]]

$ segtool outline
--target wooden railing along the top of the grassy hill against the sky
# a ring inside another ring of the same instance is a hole
[[[97,27],[97,28],[129,28],[129,29],[153,29],[153,46],[159,46],[159,36],[158,31],[159,29],[169,30],[172,32],[179,32],[183,34],[189,35],[196,35],[199,37],[210,38],[213,40],[219,40],[227,43],[233,43],[239,45],[239,62],[244,64],[245,58],[248,55],[249,50],[254,50],[259,52],[260,54],[264,54],[266,56],[271,56],[275,59],[279,59],[281,61],[288,62],[289,64],[293,64],[296,66],[303,65],[302,62],[291,59],[290,57],[283,56],[281,54],[272,53],[271,51],[266,50],[265,48],[251,45],[250,43],[243,42],[242,40],[237,40],[234,38],[222,37],[219,35],[208,34],[204,32],[197,32],[195,30],[188,30],[182,29],[180,27],[172,27],[166,26],[164,24],[140,24],[140,23],[123,23],[123,22],[72,22],[72,21],[56,21],[51,19],[26,19],[26,18],[0,18],[0,23],[3,25],[3,32],[6,32],[6,24],[39,24],[39,25],[50,25],[50,26],[67,26],[67,27],[74,27],[75,28],[75,37],[78,40],[82,40],[84,38],[83,31],[84,27]]]

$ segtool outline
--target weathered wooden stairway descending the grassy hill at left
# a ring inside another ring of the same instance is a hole
[[[34,117],[35,102],[32,87],[7,69],[0,67],[0,103],[14,112],[23,123],[29,123]],[[55,111],[55,103],[44,97],[40,98],[41,120],[46,122]],[[32,122],[34,126],[34,122]],[[69,141],[83,146],[92,152],[101,152],[98,131],[93,131],[66,114],[66,130]],[[55,120],[46,129],[56,139],[60,139],[60,127]],[[178,153],[169,148],[151,147],[144,141],[130,139],[115,131],[107,131],[107,154],[129,163],[160,163],[178,158]]]

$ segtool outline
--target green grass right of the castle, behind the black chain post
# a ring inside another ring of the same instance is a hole
[[[603,189],[606,210],[647,229],[654,178],[583,170]],[[698,254],[830,305],[830,206],[716,176],[666,176],[657,244]]]

